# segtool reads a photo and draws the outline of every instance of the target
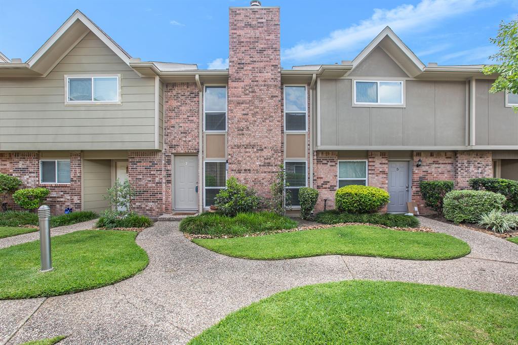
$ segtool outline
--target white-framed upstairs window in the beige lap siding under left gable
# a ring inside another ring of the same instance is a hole
[[[119,77],[66,77],[67,102],[118,102]]]

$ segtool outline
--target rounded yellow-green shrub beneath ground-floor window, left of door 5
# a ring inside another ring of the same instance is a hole
[[[374,213],[389,202],[389,192],[370,186],[345,186],[335,194],[335,207],[340,212]]]

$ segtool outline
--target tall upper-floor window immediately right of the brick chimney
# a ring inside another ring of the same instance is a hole
[[[284,130],[308,130],[308,93],[306,85],[284,85]]]

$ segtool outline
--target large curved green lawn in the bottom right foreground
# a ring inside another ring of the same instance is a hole
[[[353,280],[275,294],[190,344],[516,344],[516,320],[518,297]]]

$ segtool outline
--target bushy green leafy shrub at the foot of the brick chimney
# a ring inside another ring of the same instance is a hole
[[[226,188],[216,195],[214,203],[218,206],[218,212],[232,217],[240,212],[255,211],[261,204],[261,198],[254,189],[240,184],[237,178],[231,177],[226,181]]]

